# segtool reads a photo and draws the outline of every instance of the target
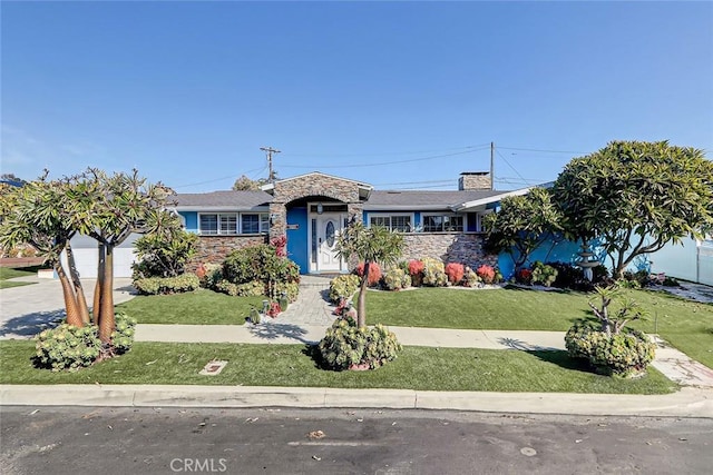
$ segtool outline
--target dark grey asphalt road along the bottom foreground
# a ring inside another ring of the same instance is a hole
[[[710,474],[713,419],[0,408],[2,474]]]

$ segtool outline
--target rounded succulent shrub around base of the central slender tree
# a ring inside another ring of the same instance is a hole
[[[371,369],[395,359],[401,345],[383,325],[358,327],[351,317],[336,318],[318,346],[324,365],[334,370],[367,364]]]

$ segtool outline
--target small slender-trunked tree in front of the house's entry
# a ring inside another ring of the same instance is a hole
[[[381,226],[365,227],[354,222],[346,227],[336,239],[336,253],[340,258],[356,258],[364,263],[356,303],[356,324],[367,326],[367,288],[369,268],[373,264],[395,264],[403,250],[403,236]]]

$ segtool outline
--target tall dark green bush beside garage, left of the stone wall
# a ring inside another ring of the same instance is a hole
[[[149,232],[134,244],[137,263],[131,266],[134,279],[148,277],[176,277],[184,274],[193,258],[198,236],[183,229]]]

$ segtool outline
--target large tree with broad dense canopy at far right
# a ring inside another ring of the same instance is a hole
[[[575,158],[554,200],[570,238],[597,238],[621,278],[637,256],[713,229],[713,162],[667,141],[612,141]]]

